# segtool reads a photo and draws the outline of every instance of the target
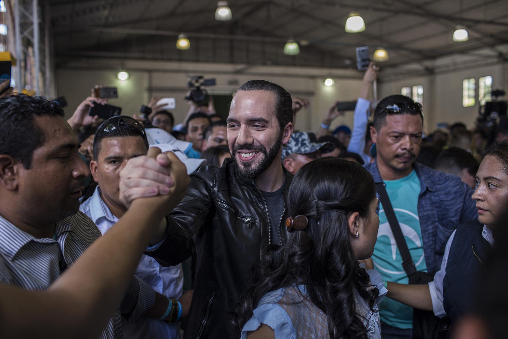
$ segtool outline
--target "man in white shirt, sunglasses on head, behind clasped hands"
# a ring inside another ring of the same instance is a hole
[[[139,122],[131,117],[118,116],[106,120],[97,130],[93,139],[93,158],[90,172],[98,183],[93,195],[80,207],[102,234],[106,233],[127,211],[119,199],[120,171],[129,159],[146,155],[148,140]],[[183,274],[181,265],[161,267],[155,259],[143,256],[136,269],[136,276],[149,284],[154,291],[177,302],[182,313],[188,312],[190,295],[182,302],[176,299],[182,295]],[[185,302],[188,300],[188,302]],[[138,324],[122,323],[124,338],[178,338],[177,324],[143,317]]]

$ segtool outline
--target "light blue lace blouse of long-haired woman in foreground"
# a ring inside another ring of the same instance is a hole
[[[360,266],[364,267],[363,264]],[[374,310],[379,309],[379,302],[387,294],[381,275],[375,270],[367,270],[370,282],[379,289]],[[298,293],[300,290],[301,294]],[[241,339],[247,337],[249,331],[255,331],[261,324],[270,326],[276,339],[329,338],[328,322],[323,312],[307,299],[305,286],[298,285],[282,288],[265,294],[252,318],[242,328]],[[364,319],[369,339],[381,338],[379,313],[369,309],[367,301],[355,291],[357,313]]]

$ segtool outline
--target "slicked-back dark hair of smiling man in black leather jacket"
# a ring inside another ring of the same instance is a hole
[[[278,84],[266,80],[249,80],[242,84],[238,91],[272,92],[277,100],[275,115],[279,122],[280,130],[283,131],[288,123],[293,122],[293,99],[291,94]]]

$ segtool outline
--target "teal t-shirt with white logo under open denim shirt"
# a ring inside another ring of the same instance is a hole
[[[426,271],[422,230],[418,217],[420,179],[413,170],[408,176],[399,180],[385,181],[385,184],[411,258],[419,271]],[[409,282],[406,272],[402,268],[402,257],[383,206],[380,206],[379,210],[379,230],[372,260],[374,267],[383,276],[384,281],[393,281],[399,284]],[[385,298],[380,309],[381,321],[397,328],[412,328],[411,307]]]

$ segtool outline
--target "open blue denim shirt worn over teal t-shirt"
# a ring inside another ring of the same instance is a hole
[[[425,262],[427,271],[435,273],[441,266],[444,248],[450,235],[460,223],[478,219],[478,211],[476,203],[471,199],[473,190],[459,177],[432,170],[417,162],[414,162],[413,166],[421,184],[418,217]],[[375,183],[383,182],[377,169],[377,161],[364,167],[370,172]]]

